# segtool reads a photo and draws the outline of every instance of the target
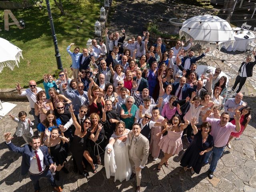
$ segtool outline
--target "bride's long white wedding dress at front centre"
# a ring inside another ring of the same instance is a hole
[[[113,146],[113,151],[114,151],[114,161],[110,161],[107,164],[110,166],[110,170],[107,171],[107,169],[109,169],[109,166],[105,166],[106,169],[106,174],[107,174],[107,178],[108,177],[108,173],[110,172],[111,176],[114,176],[114,182],[116,182],[116,180],[119,180],[120,182],[122,182],[123,180],[128,181],[130,179],[130,176],[132,174],[132,167],[129,161],[129,156],[128,156],[128,151],[129,151],[129,138],[126,139],[126,142],[122,142],[121,140],[118,140],[118,137],[116,137],[115,134],[113,134],[111,136],[112,138],[114,138],[116,141],[114,143]],[[111,138],[110,138],[111,140]],[[106,156],[109,156],[110,154],[106,154],[107,153],[107,148],[106,147],[106,151],[105,151],[105,160],[107,159],[111,159],[111,158],[107,158]],[[112,151],[112,152],[113,152]],[[111,154],[112,154],[111,152]],[[113,157],[113,155],[112,155]],[[111,163],[115,162],[115,165],[112,165]],[[106,162],[105,162],[106,165]],[[115,168],[115,172],[112,171],[112,168]]]

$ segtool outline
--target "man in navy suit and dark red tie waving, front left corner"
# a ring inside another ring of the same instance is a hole
[[[26,175],[30,172],[30,179],[34,184],[34,189],[39,192],[39,179],[41,177],[46,177],[54,190],[62,192],[60,186],[56,186],[55,180],[51,174],[52,171],[56,171],[52,157],[48,153],[47,146],[40,147],[40,137],[32,136],[30,144],[26,144],[23,147],[15,146],[11,140],[12,135],[10,132],[4,134],[6,145],[9,150],[22,154],[21,162],[21,174]]]

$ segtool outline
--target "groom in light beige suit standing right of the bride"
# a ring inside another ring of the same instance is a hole
[[[134,172],[136,172],[136,192],[140,192],[141,169],[145,167],[149,153],[149,141],[140,132],[140,124],[134,123],[132,125],[132,131],[128,134],[130,140],[129,160],[133,171],[131,178],[134,177]]]

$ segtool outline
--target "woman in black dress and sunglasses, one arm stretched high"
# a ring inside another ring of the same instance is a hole
[[[71,114],[73,124],[76,128],[74,132],[74,138],[72,142],[70,143],[70,150],[75,157],[76,165],[79,170],[80,174],[84,174],[85,177],[88,176],[88,172],[84,170],[83,165],[82,165],[82,159],[83,156],[86,158],[86,160],[90,163],[92,166],[92,170],[94,173],[97,172],[92,158],[90,157],[90,154],[87,149],[86,142],[88,142],[88,139],[90,138],[92,141],[96,141],[98,139],[100,130],[102,129],[102,124],[98,124],[98,130],[96,131],[96,134],[94,135],[93,133],[90,132],[89,128],[91,126],[91,121],[90,118],[86,117],[83,123],[83,126],[80,126],[80,124],[76,120],[76,116],[74,114],[73,110],[73,105],[70,105],[69,107],[69,112]]]

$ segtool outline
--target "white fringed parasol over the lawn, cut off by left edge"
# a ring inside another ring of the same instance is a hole
[[[22,57],[22,50],[10,43],[8,40],[0,38],[0,73],[4,67],[9,67],[11,70],[14,69],[15,65],[19,67],[18,62],[20,62],[20,57]]]

